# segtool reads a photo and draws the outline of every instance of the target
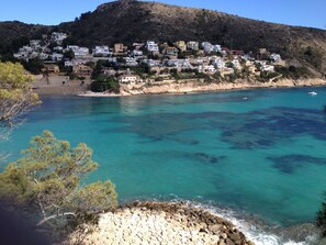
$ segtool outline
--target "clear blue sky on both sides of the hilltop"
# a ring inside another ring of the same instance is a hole
[[[93,11],[108,0],[1,0],[0,21],[58,24]],[[269,22],[326,30],[326,0],[160,0]]]

